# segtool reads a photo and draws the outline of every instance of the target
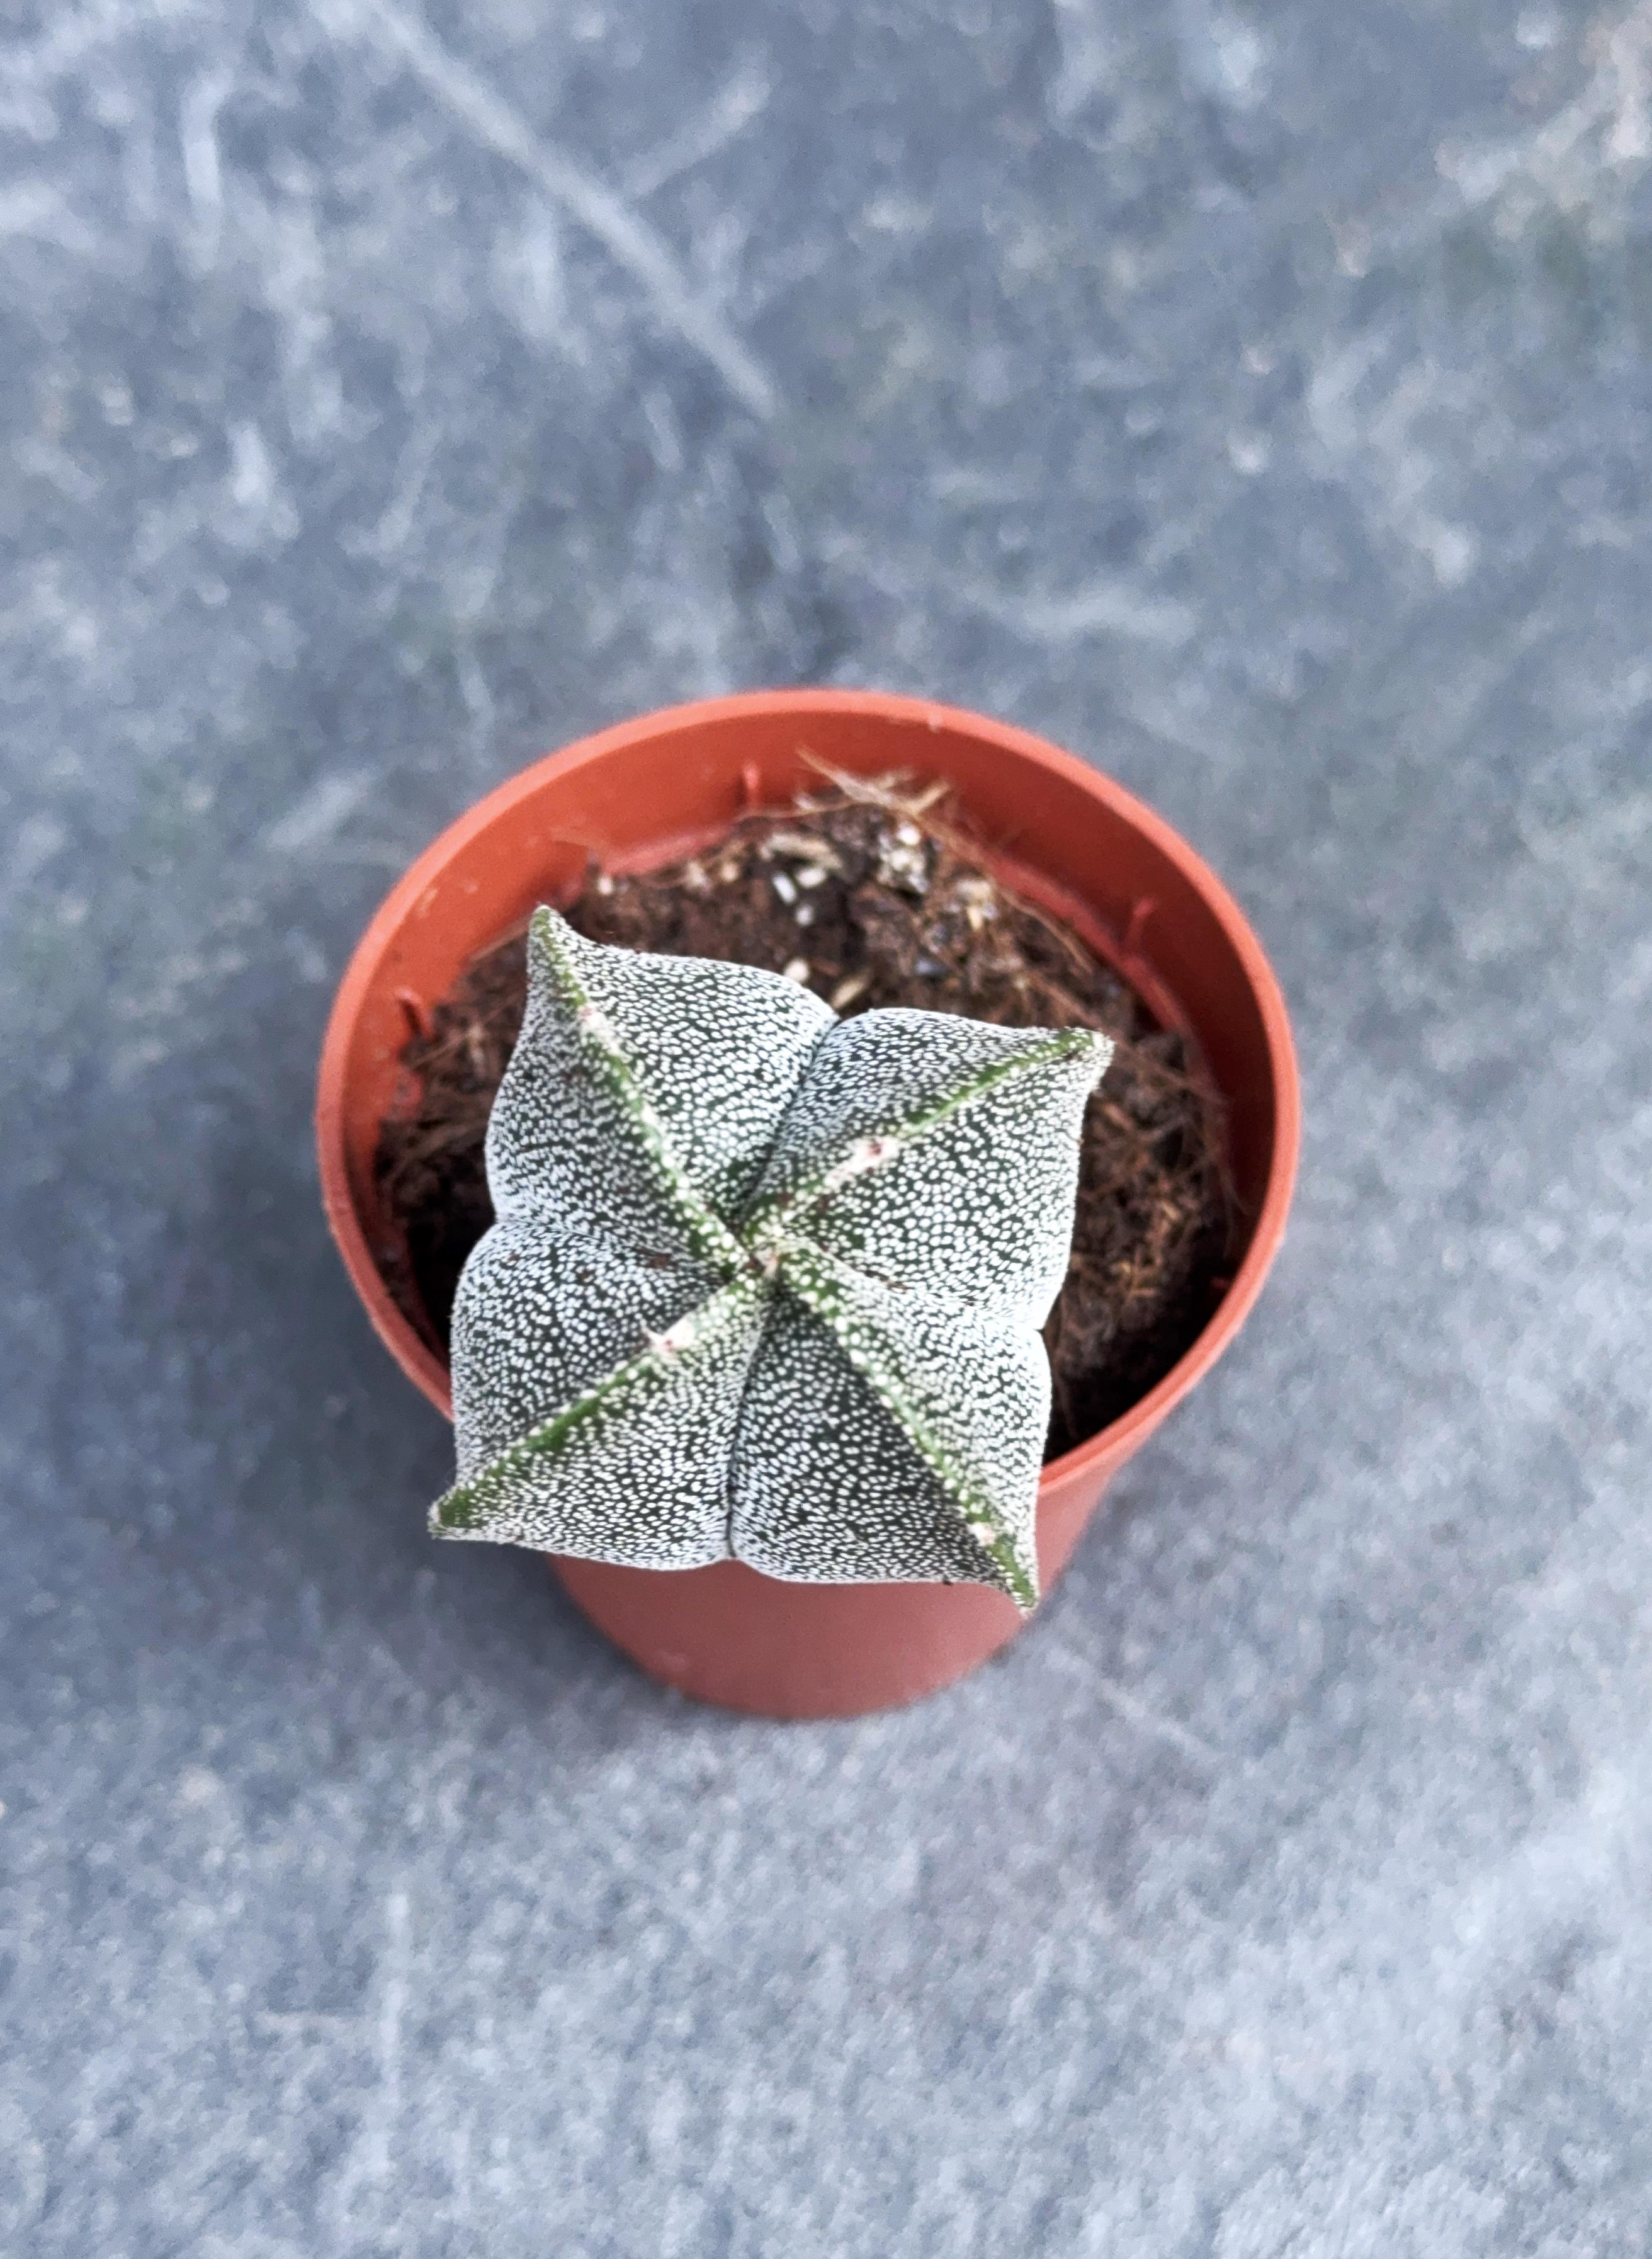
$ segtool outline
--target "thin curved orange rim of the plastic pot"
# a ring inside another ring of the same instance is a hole
[[[1180,1403],[1180,1398],[1187,1396],[1198,1380],[1203,1380],[1216,1358],[1228,1349],[1234,1333],[1239,1333],[1257,1301],[1257,1294],[1262,1292],[1262,1283],[1280,1249],[1280,1240],[1284,1238],[1284,1220],[1295,1188],[1298,1145],[1302,1134],[1302,1096],[1295,1044],[1291,1041],[1291,1019],[1284,1008],[1284,994],[1277,976],[1262,949],[1262,942],[1253,933],[1250,922],[1216,872],[1187,845],[1180,831],[1167,825],[1162,815],[1155,815],[1146,802],[1135,797],[1135,793],[1128,793],[1122,784],[1115,784],[1077,755],[1063,752],[1047,739],[1034,736],[1031,730],[1018,730],[1013,723],[993,721],[986,714],[973,714],[968,707],[950,707],[934,698],[912,698],[896,691],[736,691],[727,698],[695,698],[673,707],[654,707],[632,721],[621,721],[607,730],[594,732],[591,736],[575,739],[571,745],[562,745],[560,750],[533,761],[528,768],[517,770],[517,775],[506,777],[503,784],[497,784],[490,793],[465,809],[463,815],[447,825],[431,840],[431,845],[413,858],[375,910],[366,933],[350,956],[343,980],[339,983],[339,992],[327,1017],[327,1032],[323,1037],[320,1078],[316,1087],[316,1157],[327,1224],[332,1227],[332,1236],[339,1245],[350,1281],[372,1319],[375,1333],[408,1380],[415,1383],[438,1412],[451,1419],[449,1369],[429,1342],[420,1337],[413,1322],[402,1315],[399,1306],[390,1297],[379,1265],[372,1261],[372,1249],[366,1231],[361,1229],[361,1215],[357,1213],[350,1186],[350,1161],[343,1130],[350,1035],[372,989],[381,958],[415,913],[420,899],[442,867],[463,847],[467,847],[478,831],[492,827],[519,802],[530,800],[551,773],[566,775],[578,768],[591,768],[612,752],[652,736],[670,734],[684,725],[715,725],[722,721],[738,721],[745,714],[767,714],[776,718],[792,716],[801,721],[821,712],[864,714],[869,718],[923,725],[937,732],[955,730],[957,734],[1000,745],[1004,752],[1029,761],[1034,768],[1065,777],[1092,800],[1104,802],[1110,813],[1149,838],[1151,845],[1169,863],[1174,863],[1183,879],[1187,879],[1187,883],[1203,897],[1228,944],[1239,958],[1257,1001],[1273,1093],[1273,1152],[1268,1157],[1262,1202],[1250,1227],[1250,1242],[1239,1261],[1232,1283],[1223,1292],[1207,1324],[1192,1346],[1183,1351],[1176,1364],[1171,1364],[1165,1378],[1140,1396],[1128,1412],[1122,1412],[1119,1419],[1099,1428],[1097,1434],[1077,1444],[1058,1459],[1047,1462],[1040,1477],[1040,1491],[1049,1491],[1054,1482],[1065,1484],[1070,1477],[1081,1477],[1090,1468],[1106,1471],[1126,1459],[1149,1430],[1165,1419],[1171,1405]]]

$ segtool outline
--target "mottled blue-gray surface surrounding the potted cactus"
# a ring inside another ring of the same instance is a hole
[[[0,2248],[1652,2232],[1652,9],[14,5]],[[521,1554],[323,1236],[375,901],[634,709],[1106,764],[1307,1075],[1007,1660],[783,1730]]]

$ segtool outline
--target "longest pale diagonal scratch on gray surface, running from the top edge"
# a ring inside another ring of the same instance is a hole
[[[770,373],[731,323],[693,294],[666,242],[621,194],[539,140],[510,104],[467,63],[449,54],[418,16],[393,7],[390,0],[366,0],[363,20],[483,149],[492,149],[494,156],[524,172],[603,244],[614,264],[641,285],[657,321],[693,346],[742,407],[765,420],[774,416],[779,393]]]

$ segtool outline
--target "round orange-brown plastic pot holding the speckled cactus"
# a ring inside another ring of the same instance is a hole
[[[1221,881],[1131,793],[1054,745],[952,707],[876,691],[756,691],[603,730],[501,784],[390,890],[339,987],[320,1057],[320,1186],[345,1270],[390,1355],[451,1414],[447,1358],[390,1299],[372,1157],[404,1096],[408,1026],[465,962],[598,854],[648,870],[693,854],[749,806],[810,782],[808,757],[862,775],[946,777],[1000,876],[1072,924],[1185,1028],[1228,1105],[1246,1245],[1210,1324],[1124,1419],[1054,1459],[1038,1561],[1056,1581],[1108,1480],[1244,1324],[1284,1236],[1298,1152],[1291,1026],[1262,944]],[[580,1608],[645,1672],[767,1717],[849,1717],[930,1694],[1016,1636],[984,1586],[810,1586],[740,1561],[695,1570],[553,1556]]]

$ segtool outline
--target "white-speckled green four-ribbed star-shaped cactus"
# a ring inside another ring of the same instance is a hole
[[[1110,1050],[840,1021],[779,974],[537,910],[433,1534],[1034,1606],[1038,1328]]]

